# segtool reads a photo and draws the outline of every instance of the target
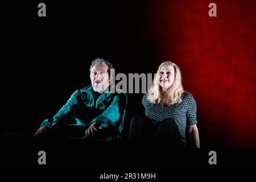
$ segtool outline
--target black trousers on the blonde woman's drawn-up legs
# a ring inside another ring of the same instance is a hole
[[[129,140],[130,142],[151,142],[152,144],[168,144],[177,147],[185,146],[179,129],[171,118],[164,119],[156,125],[146,116],[134,115],[130,122]]]

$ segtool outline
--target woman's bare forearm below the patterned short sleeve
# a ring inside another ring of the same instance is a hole
[[[190,142],[190,145],[195,148],[200,148],[200,142],[199,142],[199,132],[196,125],[188,125],[187,126],[188,131],[188,142]]]

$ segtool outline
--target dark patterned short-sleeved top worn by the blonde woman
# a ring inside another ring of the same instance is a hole
[[[186,144],[185,130],[187,125],[195,125],[196,119],[196,101],[191,93],[183,92],[181,102],[173,105],[163,106],[161,103],[154,104],[147,100],[147,92],[142,98],[142,104],[145,109],[145,115],[158,125],[163,119],[171,118],[177,124],[181,138]]]

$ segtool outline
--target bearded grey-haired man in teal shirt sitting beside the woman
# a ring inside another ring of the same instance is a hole
[[[53,118],[43,121],[35,137],[121,140],[127,96],[110,89],[110,69],[113,65],[108,60],[93,60],[92,84],[76,90]]]

